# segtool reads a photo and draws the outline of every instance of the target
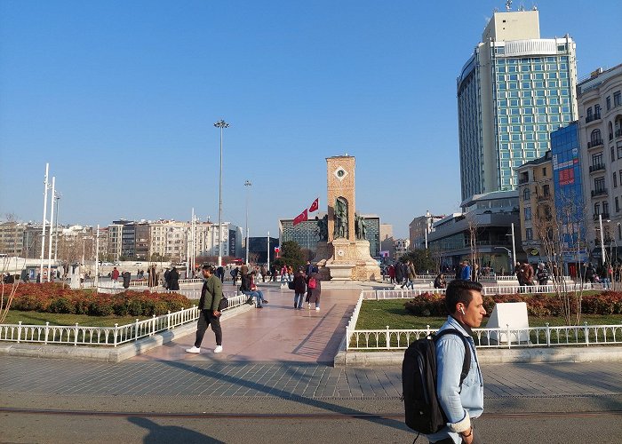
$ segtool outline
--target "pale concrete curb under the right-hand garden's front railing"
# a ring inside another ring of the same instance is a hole
[[[347,352],[346,341],[335,355],[335,367],[401,366],[403,350],[398,352]],[[622,347],[550,347],[479,349],[477,356],[482,364],[543,363],[543,362],[622,362]]]

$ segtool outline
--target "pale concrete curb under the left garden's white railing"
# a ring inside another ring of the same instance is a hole
[[[252,310],[254,305],[243,304],[222,313],[221,321]],[[30,358],[71,359],[78,361],[120,362],[140,353],[159,347],[179,337],[190,335],[196,331],[196,323],[156,333],[152,337],[143,337],[130,344],[117,347],[88,347],[82,345],[44,345],[28,343],[0,343],[0,356],[27,356]]]

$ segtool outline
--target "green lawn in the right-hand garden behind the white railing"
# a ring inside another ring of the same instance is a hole
[[[426,329],[429,325],[433,329],[438,329],[447,320],[447,317],[435,316],[415,316],[406,311],[404,303],[409,299],[386,299],[386,300],[367,300],[363,301],[361,312],[356,322],[356,329]],[[486,327],[488,318],[484,318],[482,328]],[[566,321],[562,317],[529,317],[530,327],[544,327],[548,322],[551,326],[565,325]],[[610,325],[622,323],[622,316],[619,314],[598,315],[582,314],[581,323],[587,322],[588,325]]]

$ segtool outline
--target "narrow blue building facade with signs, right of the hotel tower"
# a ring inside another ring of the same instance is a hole
[[[551,155],[555,211],[562,222],[564,259],[582,260],[585,249],[578,242],[586,238],[586,227],[577,122],[551,132]],[[581,251],[580,258],[577,251]]]

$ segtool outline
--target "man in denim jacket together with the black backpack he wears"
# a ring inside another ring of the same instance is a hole
[[[476,444],[472,420],[482,415],[483,380],[472,330],[486,314],[482,284],[447,285],[450,316],[435,337],[409,346],[403,361],[406,424],[430,442]]]

